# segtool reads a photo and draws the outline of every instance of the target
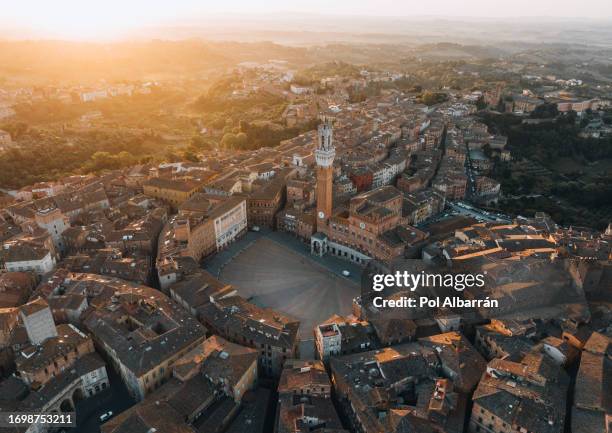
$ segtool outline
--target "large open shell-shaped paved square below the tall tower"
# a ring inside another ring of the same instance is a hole
[[[220,279],[244,298],[298,319],[300,338],[313,338],[313,327],[332,314],[350,314],[359,286],[308,257],[260,238],[236,255]]]

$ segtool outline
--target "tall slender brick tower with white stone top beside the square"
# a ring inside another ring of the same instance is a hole
[[[318,130],[319,143],[315,150],[317,161],[317,231],[325,225],[332,213],[332,184],[334,180],[333,126],[329,119],[323,119]]]

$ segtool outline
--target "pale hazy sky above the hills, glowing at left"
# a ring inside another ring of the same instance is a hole
[[[0,10],[0,23],[12,29],[105,38],[136,27],[223,13],[610,19],[612,0],[0,0]]]

